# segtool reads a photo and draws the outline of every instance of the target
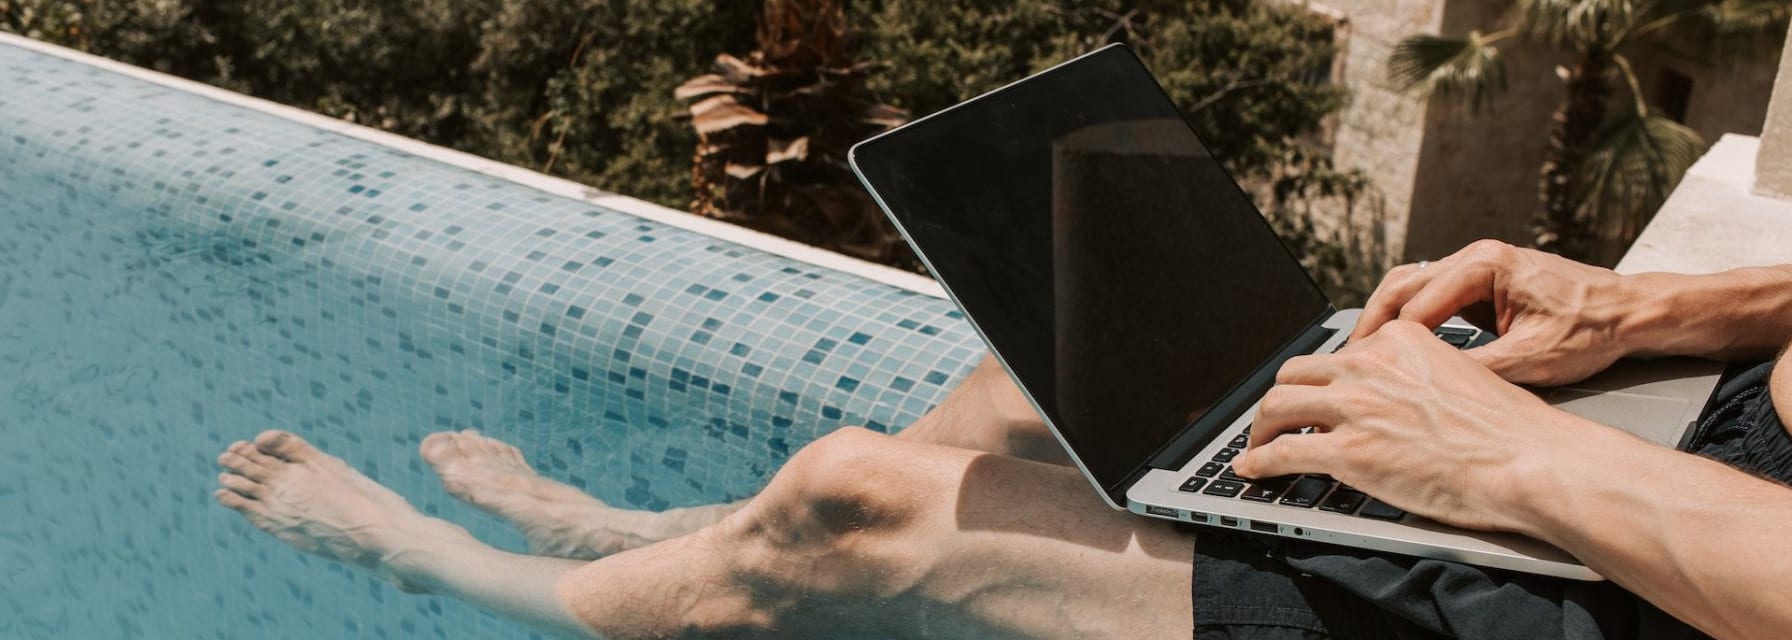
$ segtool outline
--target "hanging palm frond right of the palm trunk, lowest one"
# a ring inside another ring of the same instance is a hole
[[[1606,238],[1634,238],[1704,152],[1697,131],[1624,109],[1600,125],[1581,163],[1579,215]]]

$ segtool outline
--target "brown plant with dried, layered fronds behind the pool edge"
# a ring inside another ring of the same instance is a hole
[[[674,95],[697,131],[692,212],[846,255],[919,269],[846,161],[907,120],[864,97],[874,65],[848,47],[839,0],[767,0],[758,50],[720,54]]]

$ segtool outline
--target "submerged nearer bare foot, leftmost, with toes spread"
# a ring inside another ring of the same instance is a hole
[[[219,455],[219,504],[292,549],[349,563],[403,590],[421,590],[425,558],[477,543],[466,529],[419,513],[299,436],[265,430]]]

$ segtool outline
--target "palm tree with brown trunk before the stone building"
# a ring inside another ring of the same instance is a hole
[[[1518,0],[1493,32],[1410,36],[1387,75],[1407,91],[1437,93],[1478,111],[1505,90],[1505,43],[1572,54],[1555,109],[1532,219],[1541,249],[1611,262],[1641,231],[1704,151],[1686,125],[1649,108],[1627,52],[1672,41],[1706,61],[1770,50],[1792,0]],[[1615,102],[1622,86],[1629,100]]]

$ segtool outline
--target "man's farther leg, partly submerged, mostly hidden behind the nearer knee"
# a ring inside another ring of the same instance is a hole
[[[896,437],[1070,464],[1038,412],[989,357]],[[473,430],[430,434],[421,454],[450,495],[507,520],[539,556],[604,558],[694,532],[745,506],[738,500],[661,513],[616,509],[538,475],[516,446]]]

